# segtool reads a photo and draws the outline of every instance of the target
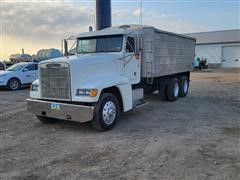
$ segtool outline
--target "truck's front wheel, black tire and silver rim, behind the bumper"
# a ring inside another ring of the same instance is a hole
[[[99,131],[107,131],[112,129],[119,115],[119,103],[111,93],[101,95],[99,102],[95,106],[94,118],[92,125],[94,129]]]

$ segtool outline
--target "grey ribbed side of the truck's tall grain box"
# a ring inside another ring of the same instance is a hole
[[[143,46],[142,77],[159,77],[191,71],[195,40],[152,30],[143,30],[146,44]],[[150,41],[151,51],[149,51]]]

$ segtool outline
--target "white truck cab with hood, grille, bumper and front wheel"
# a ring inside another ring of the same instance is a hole
[[[134,105],[132,85],[141,79],[138,39],[124,27],[80,34],[74,56],[39,63],[29,111],[41,121],[92,121],[96,129],[111,129]]]

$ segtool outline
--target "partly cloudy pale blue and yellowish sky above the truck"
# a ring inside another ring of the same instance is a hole
[[[112,0],[112,25],[142,23],[191,33],[240,29],[240,0]],[[61,40],[95,24],[95,0],[0,0],[0,60],[61,49]]]

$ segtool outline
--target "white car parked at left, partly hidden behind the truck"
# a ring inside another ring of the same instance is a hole
[[[30,85],[38,78],[38,64],[21,62],[14,64],[5,71],[0,71],[0,86],[17,90],[24,85]]]

